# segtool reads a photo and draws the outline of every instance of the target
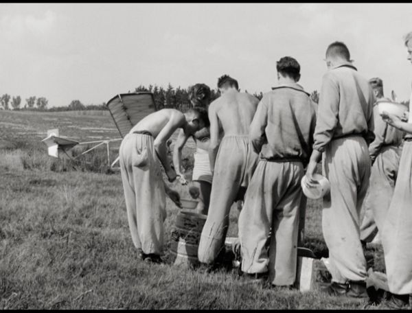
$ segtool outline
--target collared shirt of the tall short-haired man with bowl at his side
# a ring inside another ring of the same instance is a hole
[[[322,79],[313,148],[319,152],[333,138],[362,135],[374,140],[374,93],[351,62],[330,69]]]

